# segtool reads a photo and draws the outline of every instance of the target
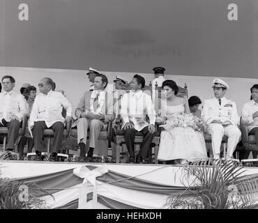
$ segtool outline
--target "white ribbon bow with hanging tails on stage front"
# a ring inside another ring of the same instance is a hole
[[[106,174],[108,169],[106,165],[102,165],[92,171],[85,167],[77,167],[73,169],[73,174],[79,178],[84,178],[82,187],[79,191],[79,204],[78,209],[93,209],[97,208],[97,187],[96,187],[96,177]],[[87,201],[87,195],[93,192],[93,199],[91,204]]]

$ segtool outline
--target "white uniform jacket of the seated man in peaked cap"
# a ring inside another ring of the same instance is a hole
[[[236,103],[225,97],[221,98],[221,105],[217,98],[204,100],[202,115],[204,122],[209,125],[213,120],[220,120],[222,123],[229,121],[232,125],[239,124],[240,118],[236,109]]]

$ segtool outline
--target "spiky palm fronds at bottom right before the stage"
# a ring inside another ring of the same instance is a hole
[[[181,172],[181,182],[188,183],[187,189],[170,196],[166,208],[239,209],[257,205],[258,175],[243,178],[245,170],[233,161],[193,162],[183,166]],[[230,187],[235,188],[236,196],[232,196]]]

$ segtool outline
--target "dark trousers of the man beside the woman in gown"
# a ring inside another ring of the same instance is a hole
[[[126,147],[128,149],[129,155],[134,157],[135,156],[135,133],[138,132],[135,128],[128,128],[125,130],[125,140],[126,140]],[[139,156],[146,158],[148,155],[149,150],[151,149],[151,142],[154,138],[154,133],[149,132],[149,127],[144,127],[141,131],[143,134],[144,139],[142,140],[142,144],[139,150]]]

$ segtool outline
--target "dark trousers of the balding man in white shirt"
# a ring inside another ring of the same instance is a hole
[[[47,125],[45,121],[37,121],[34,124],[32,134],[33,134],[33,141],[34,141],[36,151],[43,152],[44,150],[43,132],[46,128],[47,128]],[[57,121],[50,128],[54,130],[54,141],[52,144],[52,149],[53,149],[52,153],[58,153],[63,139],[64,125],[61,121]]]

